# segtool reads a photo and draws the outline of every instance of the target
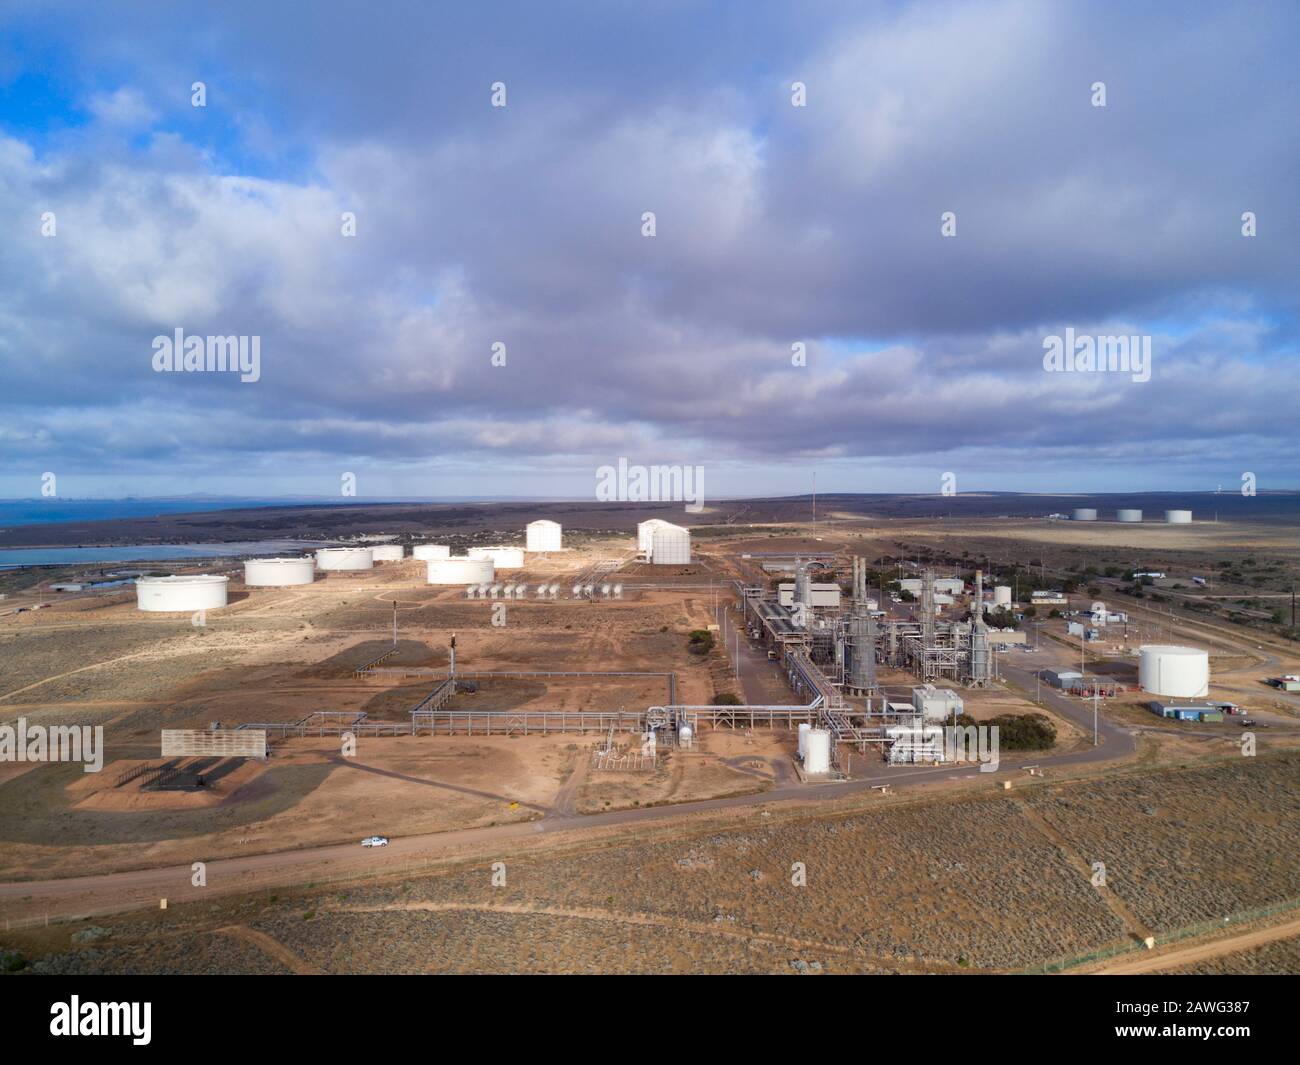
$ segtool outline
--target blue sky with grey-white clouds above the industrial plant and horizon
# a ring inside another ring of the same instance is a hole
[[[0,495],[1300,486],[1292,3],[311,12],[5,4]]]

